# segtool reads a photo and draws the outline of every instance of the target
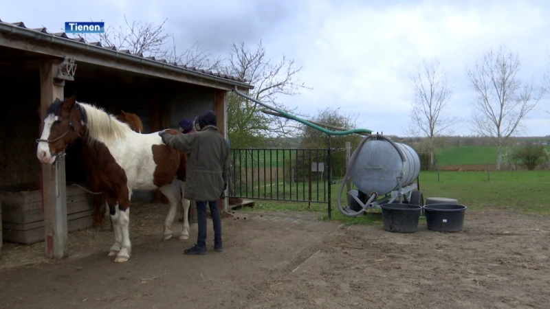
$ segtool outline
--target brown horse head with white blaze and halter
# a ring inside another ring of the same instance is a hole
[[[41,163],[53,164],[69,144],[85,135],[86,113],[75,100],[76,95],[72,95],[65,101],[56,99],[48,106],[42,135],[36,139],[36,157]]]

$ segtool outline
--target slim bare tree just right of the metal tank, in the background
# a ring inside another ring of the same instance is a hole
[[[459,117],[445,115],[452,95],[448,77],[440,67],[438,58],[424,58],[421,65],[410,73],[415,100],[410,111],[409,131],[417,137],[426,137],[430,155],[429,168],[434,168],[435,150],[441,135],[452,135],[453,126],[460,122]]]

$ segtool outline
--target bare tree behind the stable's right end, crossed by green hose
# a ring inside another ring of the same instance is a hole
[[[277,102],[278,98],[299,94],[300,89],[311,89],[297,78],[301,69],[294,60],[288,60],[284,55],[280,61],[272,62],[265,55],[265,47],[260,41],[255,49],[248,49],[244,43],[233,43],[228,61],[221,71],[254,84],[254,89],[250,91],[252,98],[289,111],[287,106]],[[234,92],[228,95],[228,133],[232,145],[252,146],[268,136],[292,136],[299,132],[298,123],[261,113],[263,106],[245,100]]]

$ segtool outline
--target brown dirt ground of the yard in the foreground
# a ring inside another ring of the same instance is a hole
[[[160,240],[167,211],[159,205],[133,207],[133,255],[124,264],[107,257],[110,231],[72,233],[73,256],[58,262],[15,266],[18,256],[43,255],[43,244],[34,246],[38,249],[5,247],[0,258],[0,308],[550,304],[547,217],[468,210],[461,232],[436,233],[421,223],[416,233],[401,234],[382,227],[320,222],[311,213],[241,213],[222,221],[223,253],[212,250],[209,227],[208,254],[186,256],[182,251],[194,240]],[[195,236],[196,225],[191,229]]]

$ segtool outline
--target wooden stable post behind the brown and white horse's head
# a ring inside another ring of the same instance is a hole
[[[41,128],[48,106],[64,100],[63,86],[54,84],[61,60],[44,60],[40,66]],[[42,164],[42,203],[47,258],[65,258],[69,251],[67,231],[67,185],[65,160],[58,157],[54,165]]]

